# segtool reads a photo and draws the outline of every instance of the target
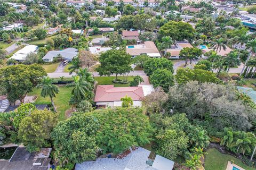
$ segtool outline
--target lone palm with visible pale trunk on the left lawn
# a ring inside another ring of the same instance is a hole
[[[53,84],[56,82],[57,81],[52,78],[43,77],[42,82],[37,86],[38,88],[42,87],[42,91],[41,91],[42,97],[44,98],[48,96],[50,97],[54,112],[57,112],[57,111],[52,98],[56,97],[56,94],[59,94],[59,87]]]

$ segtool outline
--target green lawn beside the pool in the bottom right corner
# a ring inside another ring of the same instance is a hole
[[[211,148],[206,151],[204,168],[205,170],[226,170],[228,161],[234,160],[234,164],[241,166],[246,170],[255,170],[255,168],[244,165],[240,159],[231,155],[221,154],[217,149]]]

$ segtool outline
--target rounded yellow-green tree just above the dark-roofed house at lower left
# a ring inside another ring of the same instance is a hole
[[[30,152],[50,145],[51,131],[57,115],[51,111],[33,111],[20,122],[18,138]]]

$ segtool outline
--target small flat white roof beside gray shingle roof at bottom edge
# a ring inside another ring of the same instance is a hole
[[[156,155],[152,167],[158,170],[170,170],[173,168],[173,165],[174,162],[172,160]]]

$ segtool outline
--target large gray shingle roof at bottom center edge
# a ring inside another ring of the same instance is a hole
[[[95,161],[76,164],[75,170],[165,170],[146,164],[149,154],[149,150],[139,147],[123,159],[98,158]],[[169,167],[169,170],[172,170],[172,167]]]

